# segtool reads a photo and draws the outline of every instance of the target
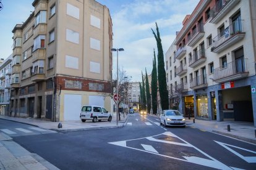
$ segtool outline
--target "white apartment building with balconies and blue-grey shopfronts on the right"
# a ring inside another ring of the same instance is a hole
[[[256,1],[201,0],[182,25],[165,55],[170,107],[256,126]]]

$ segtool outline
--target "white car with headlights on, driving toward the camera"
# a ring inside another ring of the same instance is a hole
[[[177,110],[163,110],[160,115],[160,124],[167,126],[182,126],[186,127],[185,118]]]

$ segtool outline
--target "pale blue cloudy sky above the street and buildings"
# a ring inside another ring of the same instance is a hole
[[[153,49],[157,47],[151,28],[158,23],[164,54],[181,30],[182,21],[191,14],[199,0],[97,0],[107,6],[113,22],[113,47],[119,52],[119,68],[132,81],[142,81],[141,71],[152,71]],[[12,54],[12,29],[27,20],[34,10],[33,0],[0,0],[0,58]],[[116,52],[113,53],[113,78],[116,76]]]

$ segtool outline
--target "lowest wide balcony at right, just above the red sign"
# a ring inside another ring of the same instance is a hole
[[[231,63],[219,68],[215,68],[213,73],[213,81],[216,83],[224,83],[247,77],[249,71],[246,68],[246,59],[241,57]]]

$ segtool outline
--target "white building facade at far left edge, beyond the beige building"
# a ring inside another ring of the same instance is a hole
[[[12,55],[1,60],[0,65],[0,115],[10,114]]]

